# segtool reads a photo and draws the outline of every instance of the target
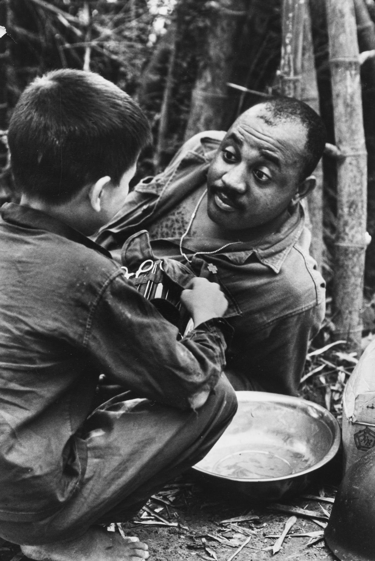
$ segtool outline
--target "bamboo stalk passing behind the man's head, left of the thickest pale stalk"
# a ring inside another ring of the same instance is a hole
[[[301,100],[314,109],[318,114],[319,93],[317,72],[315,70],[315,57],[313,37],[311,31],[310,2],[305,0],[305,17],[303,31],[303,49],[301,59]],[[323,261],[323,165],[320,161],[315,168],[314,176],[317,179],[315,189],[308,195],[308,209],[311,223],[311,253],[317,261],[318,269],[322,269]]]

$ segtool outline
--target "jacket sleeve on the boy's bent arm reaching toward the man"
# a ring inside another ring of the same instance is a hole
[[[124,390],[185,410],[190,397],[216,385],[225,367],[226,330],[225,320],[212,319],[178,342],[177,329],[116,273],[92,305],[84,343],[103,374]]]

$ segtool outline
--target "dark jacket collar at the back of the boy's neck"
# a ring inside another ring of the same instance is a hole
[[[67,240],[81,243],[89,249],[99,251],[99,253],[112,259],[109,251],[90,240],[90,238],[84,236],[84,234],[81,234],[76,229],[71,228],[58,218],[54,218],[40,210],[30,208],[29,206],[17,205],[15,203],[5,203],[0,209],[0,214],[4,222],[16,224],[16,226],[24,228],[40,229],[57,234],[57,236],[62,236],[67,238]]]

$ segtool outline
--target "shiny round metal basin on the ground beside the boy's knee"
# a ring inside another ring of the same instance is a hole
[[[236,392],[238,411],[193,469],[254,499],[303,490],[339,449],[340,427],[323,407],[297,397]]]

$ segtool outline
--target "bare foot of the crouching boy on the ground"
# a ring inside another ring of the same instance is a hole
[[[116,532],[95,527],[75,540],[21,545],[21,550],[38,561],[144,561],[149,557],[147,544],[125,541]]]

